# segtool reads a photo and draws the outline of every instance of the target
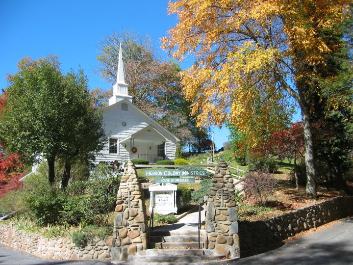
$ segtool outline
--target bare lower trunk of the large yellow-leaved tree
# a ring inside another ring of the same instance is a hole
[[[315,159],[314,144],[311,132],[311,119],[308,106],[302,101],[302,119],[305,143],[305,166],[306,166],[306,196],[316,199],[316,180],[315,180]],[[305,104],[305,106],[304,106]]]

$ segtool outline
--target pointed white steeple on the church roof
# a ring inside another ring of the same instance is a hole
[[[132,97],[127,94],[127,84],[126,84],[125,78],[124,78],[123,55],[122,55],[122,48],[121,48],[121,44],[120,44],[117,81],[116,81],[115,85],[113,85],[113,97],[111,97],[109,99],[109,106],[113,105],[123,99],[127,99],[130,102],[132,102]]]

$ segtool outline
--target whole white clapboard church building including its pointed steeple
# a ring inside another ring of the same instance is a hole
[[[96,163],[131,159],[147,159],[155,163],[158,160],[175,159],[179,139],[132,104],[124,78],[121,46],[113,96],[103,109],[103,126],[108,141],[96,156]]]

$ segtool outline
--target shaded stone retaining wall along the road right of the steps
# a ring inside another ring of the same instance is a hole
[[[276,243],[352,214],[353,197],[339,196],[268,220],[239,221],[240,248],[244,251]]]

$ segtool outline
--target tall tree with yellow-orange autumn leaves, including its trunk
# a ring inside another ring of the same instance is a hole
[[[302,111],[306,194],[316,198],[311,125],[312,98],[320,94],[318,69],[343,42],[332,41],[350,0],[176,0],[179,22],[162,47],[176,59],[193,54],[198,64],[182,72],[184,95],[199,125],[226,120],[252,139],[276,131],[269,113],[294,100]],[[283,115],[285,115],[283,113]],[[254,130],[254,128],[256,130]]]

